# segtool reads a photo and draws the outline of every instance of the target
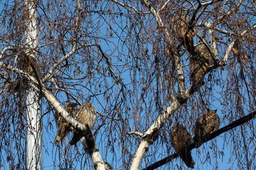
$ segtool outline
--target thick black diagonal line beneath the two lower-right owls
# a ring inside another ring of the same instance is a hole
[[[221,129],[218,129],[218,131],[215,131],[212,134],[210,134],[210,136],[206,137],[205,139],[202,139],[202,144],[205,143],[205,142],[210,141],[211,139],[214,139],[217,136],[220,136],[220,134],[223,134],[224,132],[227,132],[227,131],[233,129],[234,127],[240,126],[240,125],[246,123],[247,121],[250,121],[251,119],[254,119],[255,115],[256,115],[256,111],[253,111],[249,115],[244,116],[240,119],[237,119],[236,121],[233,121],[233,123],[230,123],[227,126],[224,126]],[[184,148],[184,149],[192,150],[194,148],[195,148],[195,143],[189,145],[189,147]],[[163,160],[160,160],[160,161],[157,161],[156,163],[151,164],[150,166],[145,168],[145,170],[146,169],[151,170],[151,169],[159,168],[160,166],[163,166],[164,164],[167,164],[170,161],[173,161],[178,156],[179,156],[178,153],[174,153],[173,155],[169,155],[166,158],[163,158]]]

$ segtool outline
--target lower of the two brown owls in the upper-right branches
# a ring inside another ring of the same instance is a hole
[[[207,73],[207,69],[210,64],[213,64],[210,52],[205,45],[201,44],[197,46],[194,54],[189,57],[190,60],[190,79],[192,85],[204,84],[203,78]]]

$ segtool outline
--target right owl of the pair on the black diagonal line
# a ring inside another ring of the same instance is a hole
[[[220,126],[220,118],[216,114],[217,110],[207,109],[207,113],[197,118],[194,129],[194,142],[196,142],[196,148],[201,145],[203,137],[207,137],[208,134],[218,130]]]

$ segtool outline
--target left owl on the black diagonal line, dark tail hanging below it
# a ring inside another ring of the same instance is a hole
[[[169,133],[171,137],[171,144],[173,145],[176,152],[179,152],[179,156],[186,163],[189,168],[194,168],[194,161],[190,150],[184,147],[192,144],[192,139],[187,129],[181,124],[177,123],[174,125],[173,130]]]

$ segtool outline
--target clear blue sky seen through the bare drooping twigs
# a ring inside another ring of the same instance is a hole
[[[12,3],[12,2],[10,2]],[[88,2],[88,4],[91,2]],[[92,5],[92,4],[91,4]],[[68,6],[70,11],[74,11],[74,3],[70,1],[70,4],[66,4]],[[93,6],[93,5],[92,5]],[[116,6],[110,6],[107,2],[103,2],[103,6],[99,3],[98,6],[93,6],[90,8],[90,10],[95,10],[98,12],[102,12],[101,15],[98,15],[96,13],[92,12],[92,20],[90,22],[94,23],[95,25],[100,25],[99,29],[96,30],[95,28],[88,28],[86,23],[88,23],[88,20],[83,20],[83,30],[86,31],[86,34],[88,34],[88,38],[86,41],[89,42],[95,42],[95,39],[99,44],[101,44],[101,47],[103,48],[103,51],[108,55],[109,60],[113,63],[113,68],[117,76],[119,76],[124,84],[126,84],[127,87],[127,103],[122,105],[118,105],[119,113],[123,116],[124,119],[127,119],[127,124],[122,124],[118,126],[119,122],[107,120],[104,127],[98,131],[96,134],[97,144],[100,148],[101,155],[103,156],[103,159],[108,161],[109,163],[113,163],[113,167],[116,169],[120,169],[122,166],[122,147],[121,147],[121,134],[118,134],[118,132],[122,131],[122,126],[129,127],[127,128],[127,131],[134,131],[136,126],[139,126],[139,131],[144,132],[150,124],[156,119],[156,117],[159,115],[159,109],[156,108],[155,104],[152,104],[152,102],[155,100],[155,94],[156,94],[156,75],[158,71],[156,70],[155,65],[155,56],[151,54],[152,51],[152,44],[153,42],[147,41],[145,39],[145,44],[135,44],[134,42],[138,39],[140,39],[141,42],[143,42],[143,37],[141,34],[147,33],[147,31],[151,31],[152,28],[147,27],[150,25],[150,23],[154,23],[155,20],[151,17],[142,17],[138,18],[138,20],[133,20],[133,18],[130,18],[130,20],[127,20],[124,16],[117,16],[117,17],[108,17],[108,15],[103,14],[103,11],[114,11],[116,9]],[[42,9],[38,9],[40,12],[42,12]],[[124,14],[126,14],[125,11],[123,11]],[[43,13],[41,13],[44,15]],[[54,19],[58,20],[62,17],[62,14],[54,14],[54,12],[47,14],[49,16],[49,20],[53,21]],[[68,14],[70,15],[71,14]],[[139,20],[140,19],[140,20]],[[144,20],[143,20],[144,19]],[[132,24],[137,23],[138,25],[140,23],[143,23],[142,27],[138,26],[137,28],[124,28],[124,26],[132,26]],[[121,25],[121,26],[120,26]],[[119,27],[120,26],[120,27]],[[143,27],[144,26],[144,27]],[[142,30],[140,30],[140,28]],[[49,28],[50,29],[50,28]],[[47,30],[47,29],[46,29]],[[55,36],[58,37],[59,33],[58,30],[55,30]],[[132,37],[126,37],[126,34],[129,33],[129,31],[132,33]],[[42,32],[41,36],[43,34],[47,34],[48,32]],[[92,33],[92,34],[91,34]],[[96,38],[96,36],[105,36],[107,39],[100,39]],[[112,36],[111,36],[112,35]],[[111,38],[109,38],[111,36]],[[151,33],[151,36],[156,36],[156,33]],[[67,36],[66,38],[69,38]],[[93,39],[95,38],[95,39]],[[92,39],[90,41],[89,39]],[[44,41],[41,41],[43,43]],[[163,42],[162,42],[163,43]],[[1,46],[0,46],[1,47]],[[138,54],[142,54],[145,49],[148,49],[148,52],[145,52],[145,57],[149,57],[149,59],[138,59],[141,56],[137,56]],[[70,46],[67,47],[67,51],[70,49]],[[93,50],[96,51],[96,48],[93,48]],[[161,49],[161,51],[164,51],[165,49]],[[45,52],[45,49],[41,51],[42,53]],[[80,51],[79,54],[74,55],[72,59],[69,60],[70,63],[72,63],[74,60],[80,60],[81,63],[77,65],[76,67],[79,67],[82,71],[82,75],[77,75],[76,78],[80,78],[86,75],[87,71],[90,67],[97,68],[98,65],[99,68],[102,70],[100,71],[94,71],[90,78],[86,78],[84,81],[72,81],[71,83],[77,83],[79,85],[83,85],[87,87],[86,89],[82,89],[81,86],[76,86],[79,89],[79,92],[73,91],[70,89],[71,92],[74,92],[75,95],[77,95],[80,102],[85,102],[85,99],[90,97],[90,102],[95,105],[96,110],[100,111],[104,115],[112,116],[114,115],[115,119],[118,119],[118,111],[115,111],[113,108],[113,105],[116,103],[121,102],[122,95],[119,95],[119,97],[116,97],[119,94],[119,91],[121,89],[121,84],[114,84],[115,81],[113,77],[108,76],[108,67],[106,65],[106,61],[104,59],[101,59],[101,55],[98,55],[98,52],[91,52],[88,54],[92,54],[92,56],[83,54]],[[48,54],[48,52],[45,52]],[[54,57],[58,58],[61,57],[61,52],[59,52],[60,56]],[[149,54],[149,56],[147,56]],[[43,54],[42,54],[43,55]],[[46,56],[46,55],[45,55]],[[164,56],[160,56],[162,62],[164,63]],[[86,59],[87,61],[83,63],[83,59]],[[92,65],[90,65],[92,64]],[[141,66],[140,66],[141,65]],[[139,68],[141,71],[139,71]],[[133,69],[133,70],[131,70]],[[186,71],[189,68],[186,67]],[[66,71],[66,72],[65,72]],[[65,70],[64,73],[69,73],[73,77],[75,76],[75,68],[68,68]],[[103,75],[107,75],[108,77],[105,78]],[[164,73],[161,73],[161,76],[163,76]],[[227,68],[224,68],[224,70],[218,70],[214,73],[216,76],[221,76],[223,78],[223,82],[226,81],[228,78],[229,73],[227,71]],[[62,75],[65,77],[65,75]],[[207,75],[208,76],[208,75]],[[206,79],[207,79],[206,76]],[[67,76],[66,76],[67,77]],[[146,81],[147,83],[142,84],[143,81]],[[164,78],[161,79],[161,81],[164,81]],[[188,81],[188,78],[187,78]],[[231,82],[232,83],[232,82]],[[144,86],[147,85],[148,86]],[[109,89],[106,91],[108,87],[113,86],[113,89]],[[189,86],[189,83],[187,84]],[[143,87],[147,88],[147,92],[143,92]],[[209,89],[213,87],[213,91],[210,91]],[[220,127],[225,126],[230,121],[234,121],[236,118],[239,118],[239,114],[234,113],[235,110],[231,110],[229,113],[226,111],[229,110],[229,106],[221,105],[221,103],[225,102],[221,99],[222,95],[225,94],[224,89],[225,84],[217,85],[216,82],[207,82],[207,84],[201,89],[202,94],[205,89],[207,89],[210,92],[207,92],[207,94],[211,94],[213,92],[214,94],[211,97],[207,97],[203,94],[203,99],[208,99],[210,102],[210,106],[212,109],[218,109],[218,115],[220,116],[221,125]],[[161,89],[160,91],[163,91],[161,93],[160,101],[163,103],[163,108],[166,108],[170,100],[166,101],[167,92],[166,89]],[[106,91],[104,94],[103,92]],[[232,92],[234,89],[227,89],[227,92]],[[131,92],[131,95],[129,96],[129,92]],[[242,95],[244,95],[245,100],[248,99],[248,95],[245,92],[245,89],[241,90]],[[97,94],[96,96],[93,96],[93,94]],[[143,99],[145,101],[142,101],[140,96],[143,94]],[[66,101],[66,95],[64,92],[59,93],[58,99],[61,102]],[[109,97],[109,100],[108,99]],[[198,100],[200,102],[199,97],[194,97],[191,100]],[[137,106],[139,105],[139,107]],[[193,107],[195,104],[195,108]],[[112,105],[112,107],[111,107]],[[129,106],[130,105],[130,106]],[[43,104],[43,111],[46,110],[45,103]],[[249,104],[246,102],[244,104],[244,113],[248,113],[248,110],[250,110]],[[128,109],[130,108],[130,110]],[[255,107],[254,107],[255,108]],[[116,109],[116,108],[115,108]],[[195,109],[195,110],[194,110]],[[221,109],[224,111],[222,112]],[[132,111],[136,110],[137,115],[133,113]],[[184,125],[189,129],[189,131],[192,133],[193,123],[190,122],[189,118],[186,116],[197,116],[198,113],[202,113],[202,108],[198,108],[197,102],[191,102],[189,101],[186,106],[182,107],[179,111],[179,119],[184,123]],[[231,114],[234,116],[228,116],[226,118],[226,114]],[[139,118],[137,116],[139,115]],[[176,116],[176,115],[175,115]],[[173,120],[175,119],[175,116],[173,116]],[[252,121],[251,121],[252,122]],[[51,124],[50,124],[51,123]],[[96,123],[96,127],[100,126],[100,123],[102,123],[101,119],[98,118],[98,123]],[[140,124],[143,124],[143,126],[140,127]],[[255,120],[253,123],[251,123],[252,126],[255,129]],[[247,128],[247,125],[244,126]],[[119,129],[120,128],[120,129]],[[240,127],[236,127],[236,129],[232,130],[231,132],[227,132],[227,134],[232,132],[240,132]],[[166,123],[163,127],[163,131],[169,131],[171,127]],[[250,131],[249,128],[247,128],[248,131],[245,132],[247,134],[247,137],[252,136],[253,132]],[[113,133],[113,138],[110,138],[109,140],[115,140],[116,142],[113,142],[114,145],[114,154],[111,151],[111,147],[108,146],[108,137],[109,133]],[[164,132],[163,132],[164,133]],[[223,139],[226,139],[226,141],[231,140],[231,136],[227,134],[222,134],[221,136],[216,137],[211,142],[207,142],[207,144],[204,144],[202,147],[198,148],[197,150],[192,151],[192,156],[195,160],[195,168],[196,169],[238,169],[236,158],[234,156],[234,147],[231,142],[228,142],[228,144],[223,143]],[[82,147],[79,144],[78,150],[75,149],[75,147],[65,147],[67,146],[67,140],[66,145],[64,144],[60,150],[56,145],[53,144],[54,137],[56,135],[56,124],[54,123],[53,113],[49,112],[46,114],[43,118],[43,169],[58,169],[59,161],[61,161],[61,164],[65,164],[64,160],[72,160],[73,166],[75,169],[79,169],[82,167],[92,167],[92,162],[89,161],[89,165],[86,164],[83,165],[83,161],[88,159],[88,155],[84,155],[82,151]],[[161,134],[163,135],[163,134]],[[162,139],[163,136],[160,136],[160,139]],[[130,154],[133,155],[137,149],[137,146],[139,144],[140,139],[135,140],[136,137],[126,137],[127,139],[127,148],[130,149]],[[155,161],[161,160],[162,158],[168,156],[169,154],[172,154],[173,148],[170,146],[170,142],[168,139],[164,139],[163,142],[158,139],[155,144],[151,145],[150,150],[148,154],[145,156],[145,159],[142,162],[142,168],[145,167],[145,164],[147,165],[154,163]],[[245,140],[245,142],[248,142],[249,139]],[[249,144],[249,142],[248,142]],[[213,148],[211,148],[213,146]],[[253,152],[252,147],[254,147],[253,143],[249,144],[250,148],[250,154],[255,153]],[[59,151],[60,155],[59,155]],[[75,156],[76,152],[80,152],[79,156]],[[66,152],[64,154],[64,152]],[[221,152],[223,152],[223,156],[221,156]],[[232,153],[233,152],[233,153]],[[215,154],[217,158],[214,158]],[[65,155],[65,158],[62,156]],[[127,156],[127,155],[126,155]],[[208,156],[208,157],[207,157]],[[207,157],[207,158],[206,158]],[[231,158],[231,163],[229,162],[229,158]],[[80,160],[82,159],[82,161]],[[75,161],[73,161],[75,160]],[[126,160],[129,160],[129,158],[126,158]],[[81,163],[82,162],[82,163]],[[55,167],[53,166],[55,165]],[[177,166],[182,166],[182,169],[186,169],[186,165],[181,163],[181,160],[177,158],[172,163],[172,168],[178,169]],[[177,164],[177,166],[176,166]],[[255,160],[254,160],[254,166],[255,166]],[[218,168],[215,168],[215,166],[218,166]],[[6,166],[7,167],[7,166]],[[169,166],[163,166],[159,169],[167,169]]]

